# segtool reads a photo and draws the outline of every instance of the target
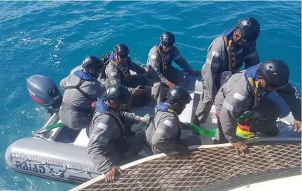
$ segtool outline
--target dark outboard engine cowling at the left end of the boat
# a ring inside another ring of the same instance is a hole
[[[58,113],[62,103],[62,94],[54,81],[43,75],[32,75],[26,79],[30,97],[47,109],[52,115]]]

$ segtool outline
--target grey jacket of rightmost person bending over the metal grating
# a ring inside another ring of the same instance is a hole
[[[289,105],[294,118],[301,121],[301,97],[296,87],[289,85],[278,90],[277,93]],[[237,141],[236,121],[239,116],[251,108],[251,99],[243,71],[232,75],[220,88],[215,98],[215,108],[220,113],[219,121],[229,142]]]

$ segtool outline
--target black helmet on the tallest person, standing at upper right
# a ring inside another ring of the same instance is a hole
[[[237,22],[236,29],[241,30],[243,42],[255,41],[260,34],[260,24],[255,18],[243,18]]]

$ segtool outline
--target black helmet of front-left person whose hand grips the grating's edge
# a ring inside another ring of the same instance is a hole
[[[126,86],[116,84],[112,85],[106,90],[106,98],[113,101],[118,101],[121,104],[120,109],[126,109],[131,101],[131,94]]]

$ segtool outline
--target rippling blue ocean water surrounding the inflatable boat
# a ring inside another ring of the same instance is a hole
[[[6,167],[8,145],[48,118],[28,95],[30,75],[59,84],[85,56],[102,56],[119,42],[144,64],[164,30],[174,32],[181,54],[200,70],[212,39],[242,17],[260,21],[260,60],[286,61],[301,92],[301,1],[1,1],[0,190],[74,187]]]

